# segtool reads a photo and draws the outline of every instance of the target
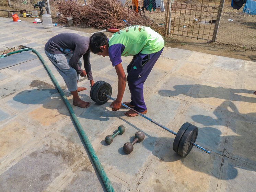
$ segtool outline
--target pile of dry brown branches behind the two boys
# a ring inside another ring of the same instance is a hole
[[[136,13],[128,7],[122,7],[117,0],[94,0],[90,5],[84,6],[75,1],[59,1],[58,9],[62,13],[62,22],[65,17],[72,16],[74,24],[97,28],[124,28],[126,20],[131,25],[149,26],[159,31],[160,26],[141,13]],[[162,28],[162,27],[161,27]]]

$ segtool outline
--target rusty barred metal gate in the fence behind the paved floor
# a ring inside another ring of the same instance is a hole
[[[165,36],[215,41],[223,4],[224,0],[168,0]]]

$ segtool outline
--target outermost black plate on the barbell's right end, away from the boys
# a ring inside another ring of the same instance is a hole
[[[190,142],[196,141],[198,135],[198,128],[195,125],[190,125],[183,136],[181,137],[181,140],[179,141],[179,147],[178,147],[178,154],[182,157],[186,157],[187,154],[191,151],[192,145]]]

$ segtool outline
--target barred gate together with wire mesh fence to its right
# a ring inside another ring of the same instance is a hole
[[[256,15],[231,7],[231,0],[168,0],[165,36],[256,47]]]

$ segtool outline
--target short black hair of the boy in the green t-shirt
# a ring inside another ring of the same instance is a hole
[[[107,36],[104,33],[97,32],[90,37],[89,48],[94,54],[102,52],[100,47],[104,45],[107,45]]]

